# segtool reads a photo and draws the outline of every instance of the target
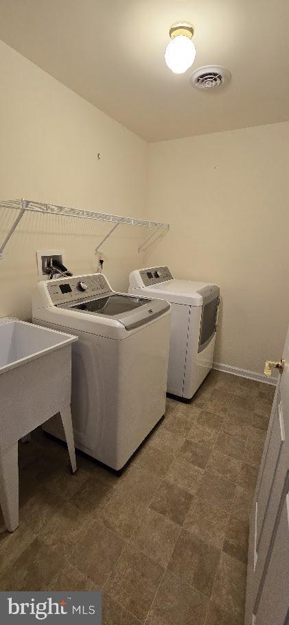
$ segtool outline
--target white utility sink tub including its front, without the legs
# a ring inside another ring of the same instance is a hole
[[[0,451],[70,405],[76,340],[25,321],[0,319]]]

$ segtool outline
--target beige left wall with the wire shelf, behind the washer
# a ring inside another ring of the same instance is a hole
[[[145,217],[148,144],[4,43],[0,43],[0,197]],[[97,161],[97,153],[101,159]],[[12,222],[1,211],[0,241]],[[0,316],[30,318],[35,252],[64,248],[73,272],[93,272],[109,224],[27,215],[0,261]],[[104,270],[124,290],[147,231],[119,226]]]

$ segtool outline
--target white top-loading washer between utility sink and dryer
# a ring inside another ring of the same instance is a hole
[[[122,469],[165,413],[170,304],[113,292],[103,274],[65,276],[38,283],[33,320],[78,335],[71,395],[76,447]],[[64,439],[57,416],[45,430]]]

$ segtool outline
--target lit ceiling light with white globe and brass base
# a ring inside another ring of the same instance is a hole
[[[171,41],[165,49],[165,62],[175,74],[183,74],[196,56],[192,42],[194,27],[189,22],[176,22],[170,27],[169,34]]]

